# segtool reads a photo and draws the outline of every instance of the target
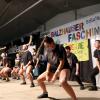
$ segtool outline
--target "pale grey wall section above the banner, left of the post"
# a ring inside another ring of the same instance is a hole
[[[46,23],[46,30],[69,23],[75,20],[74,11],[58,14]]]

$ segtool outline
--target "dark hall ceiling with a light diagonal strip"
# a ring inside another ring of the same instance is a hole
[[[34,31],[59,13],[98,3],[100,0],[0,0],[0,45]]]

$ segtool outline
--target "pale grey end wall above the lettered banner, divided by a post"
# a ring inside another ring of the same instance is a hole
[[[100,12],[100,4],[78,9],[77,10],[77,19],[92,15],[97,12]],[[74,20],[75,20],[74,10],[58,14],[46,22],[46,31],[48,31],[54,27],[72,22]]]

